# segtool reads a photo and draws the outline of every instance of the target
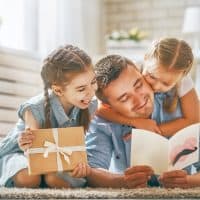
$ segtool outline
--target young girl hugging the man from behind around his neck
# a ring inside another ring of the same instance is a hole
[[[193,54],[190,46],[185,41],[176,38],[164,38],[157,41],[145,56],[143,74],[146,81],[156,93],[157,99],[160,98],[159,96],[162,98],[164,96],[164,103],[161,106],[169,114],[175,111],[180,100],[182,118],[157,125],[151,119],[124,118],[113,112],[108,105],[100,105],[97,114],[107,120],[151,130],[166,137],[172,136],[190,124],[199,122],[198,96],[191,78],[187,75],[192,64]]]

